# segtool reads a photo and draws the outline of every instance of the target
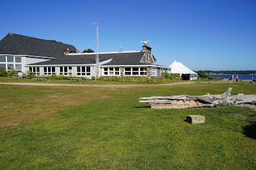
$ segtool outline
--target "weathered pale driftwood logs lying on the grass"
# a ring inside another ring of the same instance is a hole
[[[141,103],[150,103],[153,109],[163,108],[212,108],[234,104],[256,104],[256,95],[237,94],[231,96],[230,87],[225,93],[205,96],[168,96],[168,97],[141,97]]]

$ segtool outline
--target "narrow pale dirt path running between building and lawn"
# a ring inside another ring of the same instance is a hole
[[[77,84],[56,84],[56,83],[8,83],[0,82],[0,85],[33,85],[33,86],[74,86],[74,87],[152,87],[152,86],[169,86],[169,85],[187,85],[195,83],[193,81],[186,82],[175,82],[166,84],[155,84],[155,85],[77,85]]]

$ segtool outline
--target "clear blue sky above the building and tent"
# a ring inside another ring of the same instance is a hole
[[[4,1],[0,39],[8,32],[55,39],[78,50],[141,50],[157,64],[198,70],[256,70],[255,0]]]

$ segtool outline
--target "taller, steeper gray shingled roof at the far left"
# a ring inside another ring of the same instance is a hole
[[[67,48],[69,48],[70,51],[76,52],[76,48],[73,45],[13,33],[7,34],[0,41],[1,54],[59,58],[63,57],[64,51],[67,50]]]

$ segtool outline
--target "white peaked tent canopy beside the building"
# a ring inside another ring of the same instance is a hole
[[[180,77],[182,74],[189,74],[189,80],[196,80],[198,74],[195,71],[192,71],[188,67],[184,66],[181,62],[174,61],[169,67],[171,67],[172,74],[179,74]]]

